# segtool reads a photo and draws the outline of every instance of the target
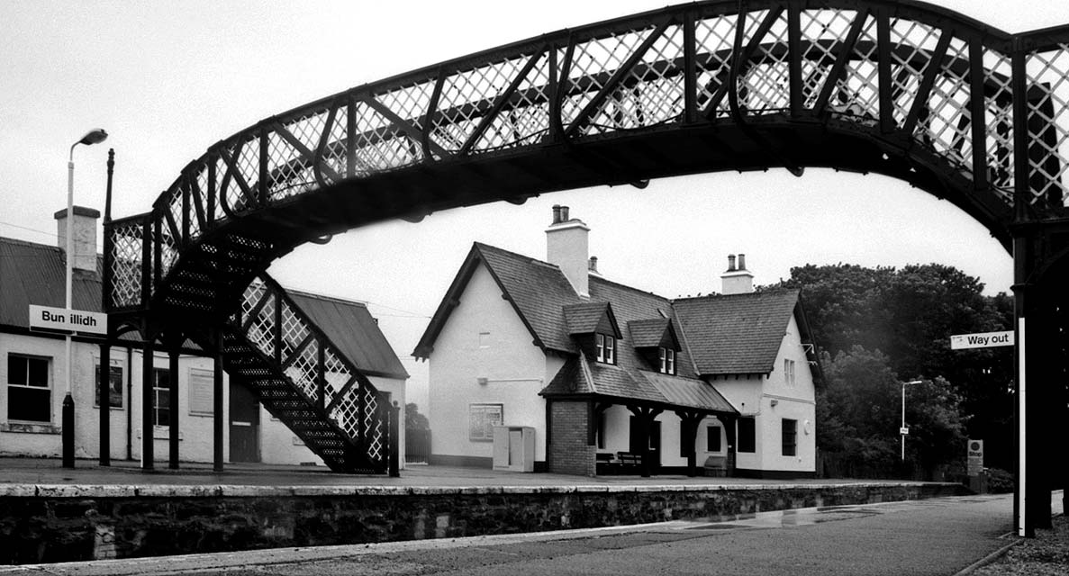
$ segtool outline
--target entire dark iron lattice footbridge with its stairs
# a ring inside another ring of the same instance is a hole
[[[690,3],[360,85],[213,144],[151,211],[108,221],[105,306],[117,330],[219,351],[337,469],[381,470],[377,391],[329,342],[303,344],[314,327],[264,278],[294,247],[662,176],[881,173],[952,202],[1013,254],[1031,530],[1055,482],[1036,440],[1064,436],[1051,422],[1066,405],[1067,138],[1069,27],[1009,34],[911,1]]]

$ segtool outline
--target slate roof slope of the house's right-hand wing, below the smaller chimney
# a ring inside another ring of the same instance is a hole
[[[797,290],[672,302],[698,373],[768,374],[799,301]]]

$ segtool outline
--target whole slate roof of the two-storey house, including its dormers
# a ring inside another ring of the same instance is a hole
[[[568,358],[540,392],[543,395],[597,394],[735,412],[700,378],[771,372],[799,301],[797,291],[673,301],[593,275],[589,278],[590,295],[583,298],[559,267],[476,243],[414,356],[430,356],[468,280],[483,264],[536,345]],[[616,364],[587,358],[579,345],[594,327],[604,329],[598,325],[607,315],[614,317],[616,326],[628,328],[617,332]],[[654,371],[657,367],[650,365],[653,359],[647,351],[666,341],[677,346],[676,375],[659,374]]]

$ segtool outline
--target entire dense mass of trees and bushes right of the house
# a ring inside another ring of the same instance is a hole
[[[988,466],[1012,458],[1012,348],[951,351],[956,333],[1007,330],[1012,298],[982,294],[976,278],[941,264],[901,269],[806,265],[775,287],[802,289],[825,384],[818,447],[868,473],[896,469],[902,380],[907,458],[925,470],[963,458],[964,438],[986,440]]]

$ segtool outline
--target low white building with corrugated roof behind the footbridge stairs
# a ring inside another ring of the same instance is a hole
[[[96,251],[99,212],[76,206],[72,262],[73,307],[99,312],[102,259]],[[61,414],[66,396],[65,342],[61,333],[30,328],[29,306],[63,308],[65,302],[66,211],[56,214],[58,246],[0,237],[0,455],[58,457],[62,453]],[[372,384],[402,407],[407,373],[378,329],[366,305],[358,301],[286,291],[343,354],[359,360]],[[180,457],[213,462],[213,367],[192,343],[180,357],[179,382],[171,383],[169,358],[154,359],[155,410],[141,421],[142,352],[136,337],[112,346],[110,382],[99,383],[99,340],[75,336],[72,346],[71,394],[75,403],[75,456],[99,456],[99,394],[109,394],[110,456],[140,460],[142,435],[152,434],[157,461],[167,461],[169,425],[179,419]],[[227,462],[323,465],[281,421],[272,417],[244,386],[223,376],[223,445]],[[170,405],[170,387],[179,387],[179,403]],[[403,412],[402,412],[403,421]],[[403,434],[403,426],[402,432]],[[403,451],[404,438],[399,442]],[[403,454],[399,458],[403,466]]]

